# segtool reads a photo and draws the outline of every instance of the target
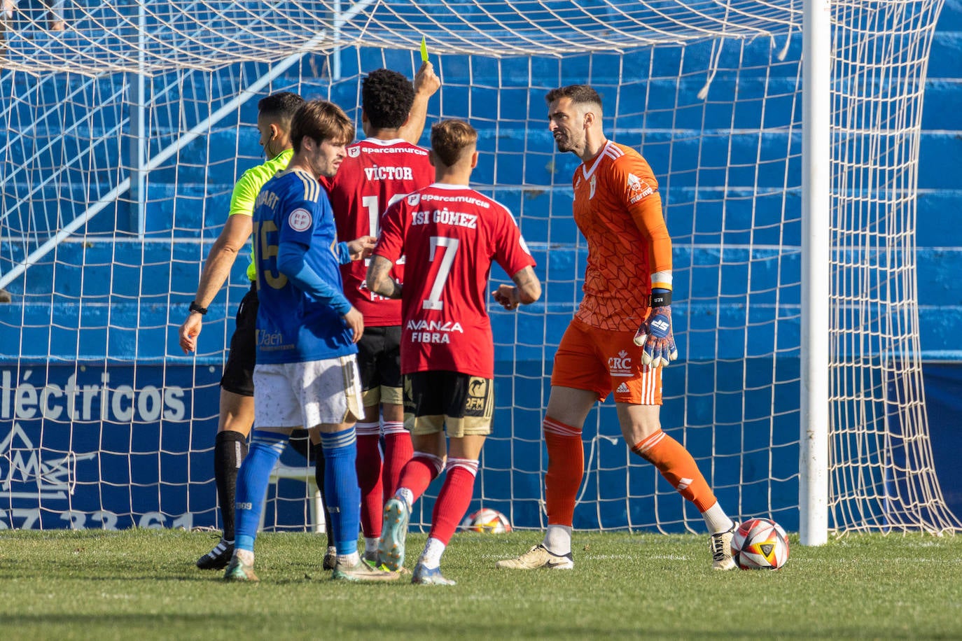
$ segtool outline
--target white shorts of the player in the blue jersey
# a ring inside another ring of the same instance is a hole
[[[254,366],[254,428],[313,428],[357,420],[361,377],[354,355]]]

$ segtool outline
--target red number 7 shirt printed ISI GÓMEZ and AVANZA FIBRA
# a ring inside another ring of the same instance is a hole
[[[406,257],[401,372],[492,378],[492,262],[512,275],[535,264],[511,212],[468,185],[435,183],[385,212],[374,255]]]

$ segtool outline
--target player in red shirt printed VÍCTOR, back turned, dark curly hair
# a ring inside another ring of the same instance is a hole
[[[403,75],[390,69],[376,69],[364,79],[361,123],[366,138],[347,147],[347,158],[326,185],[339,237],[355,238],[358,233],[376,236],[381,214],[393,198],[430,185],[434,180],[427,150],[412,144],[424,126],[424,114],[412,111],[416,92],[433,93],[440,85],[431,69],[431,63],[426,62],[415,79],[417,89]],[[426,100],[420,103],[426,104]],[[412,118],[418,117],[420,127],[414,128]],[[410,141],[404,139],[405,134],[410,136]],[[344,264],[341,273],[344,295],[364,314],[365,322],[365,333],[358,343],[365,414],[356,425],[357,472],[365,558],[374,561],[381,537],[385,497],[393,495],[401,468],[411,458],[413,448],[411,434],[404,429],[401,399],[401,302],[379,296],[367,288],[365,262]],[[403,281],[403,269],[403,260],[399,260],[392,270],[392,278]]]

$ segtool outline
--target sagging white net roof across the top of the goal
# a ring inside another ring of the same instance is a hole
[[[153,74],[279,60],[339,46],[417,49],[421,37],[438,54],[577,55],[704,37],[769,37],[797,31],[800,4],[78,0],[65,15],[70,28],[53,38],[38,36],[45,28],[42,11],[17,14],[8,25],[8,65],[31,72]]]

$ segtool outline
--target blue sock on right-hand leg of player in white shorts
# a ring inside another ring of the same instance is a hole
[[[353,427],[322,433],[320,444],[324,450],[324,499],[331,513],[328,527],[334,534],[338,555],[351,555],[357,552],[358,530],[361,527],[361,488],[358,487],[357,469],[354,467],[357,436]],[[240,541],[240,527],[238,532]],[[239,543],[235,543],[237,545]]]

